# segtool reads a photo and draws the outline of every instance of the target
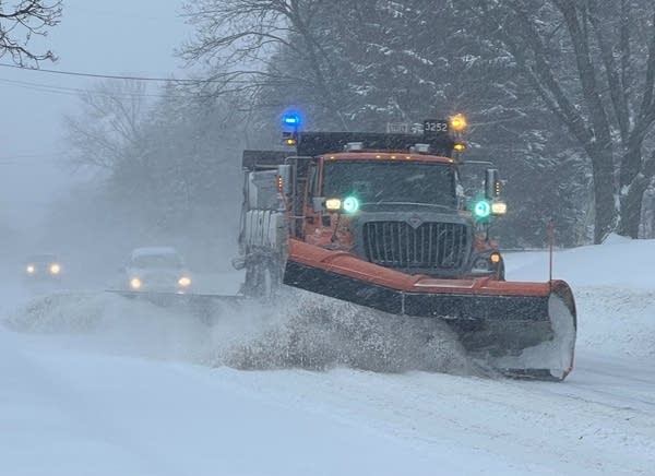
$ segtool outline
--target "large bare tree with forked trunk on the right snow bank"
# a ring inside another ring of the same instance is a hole
[[[500,41],[592,163],[595,241],[636,238],[655,174],[655,7],[628,0],[476,0]],[[618,200],[617,200],[618,199]]]

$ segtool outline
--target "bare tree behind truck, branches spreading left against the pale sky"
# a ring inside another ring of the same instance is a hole
[[[342,0],[198,0],[184,5],[195,40],[180,55],[190,63],[204,61],[219,82],[215,93],[243,93],[253,102],[262,87],[295,87],[315,92],[319,104],[341,117],[335,68],[317,34],[317,22]],[[278,68],[278,52],[289,51],[306,66],[301,80]],[[216,83],[213,83],[216,84]],[[261,99],[261,98],[260,98]],[[343,126],[346,127],[345,121]]]

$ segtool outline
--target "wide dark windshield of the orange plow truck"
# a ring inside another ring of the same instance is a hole
[[[455,169],[418,162],[326,162],[325,198],[355,195],[361,203],[429,203],[456,206]]]

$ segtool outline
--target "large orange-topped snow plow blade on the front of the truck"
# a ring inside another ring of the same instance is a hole
[[[441,319],[472,356],[509,376],[563,380],[572,370],[577,324],[563,281],[437,279],[289,241],[286,285],[392,314]]]

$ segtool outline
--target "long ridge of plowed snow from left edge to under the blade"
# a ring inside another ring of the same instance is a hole
[[[305,293],[274,308],[226,304],[211,325],[183,307],[103,293],[56,294],[31,300],[4,323],[19,332],[84,334],[75,345],[112,354],[248,370],[472,371],[444,323],[398,319]]]

